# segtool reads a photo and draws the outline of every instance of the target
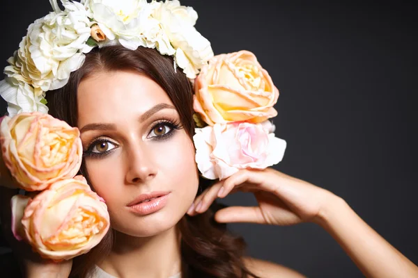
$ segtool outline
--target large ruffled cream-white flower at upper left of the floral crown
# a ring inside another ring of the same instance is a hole
[[[56,0],[52,3],[59,9]],[[36,95],[63,87],[84,62],[82,52],[91,50],[86,45],[91,33],[86,9],[77,2],[63,5],[65,10],[55,10],[29,26],[5,68],[9,77],[32,85]]]

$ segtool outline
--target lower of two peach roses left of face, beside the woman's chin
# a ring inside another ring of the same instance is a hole
[[[82,176],[57,181],[33,199],[14,196],[12,213],[16,238],[24,238],[42,257],[54,261],[88,252],[109,229],[106,204]]]

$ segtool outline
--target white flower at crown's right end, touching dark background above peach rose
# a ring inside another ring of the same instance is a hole
[[[180,6],[178,0],[165,1],[153,13],[158,19],[169,40],[176,49],[175,59],[189,79],[196,74],[208,60],[212,58],[213,51],[210,42],[196,31],[197,13],[191,7]]]

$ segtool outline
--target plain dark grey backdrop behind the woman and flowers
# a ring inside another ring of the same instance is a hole
[[[417,6],[402,1],[183,0],[215,54],[247,49],[281,95],[274,119],[288,142],[277,170],[346,199],[389,243],[418,263]],[[47,0],[1,6],[0,67]],[[415,99],[415,98],[414,98]],[[1,113],[6,105],[1,102]],[[415,119],[415,120],[414,120]],[[235,195],[227,204],[254,204]],[[233,224],[249,254],[309,277],[362,277],[315,224]]]

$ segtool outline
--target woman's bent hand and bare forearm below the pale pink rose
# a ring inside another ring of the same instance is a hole
[[[346,202],[330,191],[273,169],[242,170],[196,197],[187,212],[203,213],[217,197],[234,191],[254,193],[258,206],[230,206],[217,222],[291,225],[320,224],[366,277],[418,277],[418,267],[371,229]]]

